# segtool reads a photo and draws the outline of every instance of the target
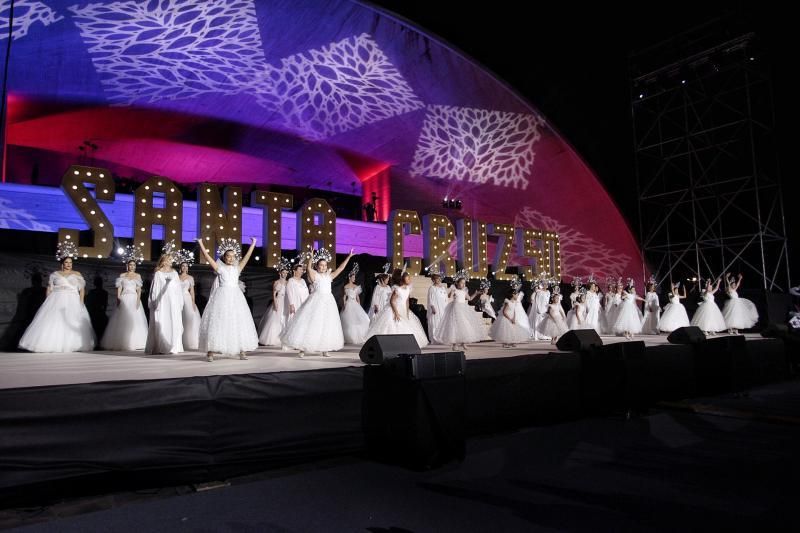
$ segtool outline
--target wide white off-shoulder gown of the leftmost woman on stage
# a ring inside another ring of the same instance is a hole
[[[54,353],[94,350],[92,321],[80,295],[85,286],[83,276],[78,273],[50,274],[50,294],[19,340],[19,347],[30,352]]]

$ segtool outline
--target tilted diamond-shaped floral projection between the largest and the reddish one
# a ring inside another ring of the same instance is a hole
[[[424,104],[369,35],[362,34],[281,60],[258,101],[291,129],[330,137],[420,109]]]

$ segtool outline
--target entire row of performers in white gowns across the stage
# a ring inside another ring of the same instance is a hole
[[[59,243],[57,258],[61,269],[50,275],[47,298],[22,336],[19,346],[32,352],[72,352],[93,350],[96,337],[88,311],[83,305],[85,282],[73,269],[77,249],[73,243]],[[561,303],[559,287],[535,283],[531,306],[526,312],[521,283],[512,282],[499,310],[493,306],[490,284],[482,281],[480,289],[470,293],[466,273],[460,272],[451,286],[438,272],[430,272],[432,285],[427,298],[426,334],[422,323],[410,309],[411,276],[388,268],[376,275],[377,285],[368,311],[361,305],[361,287],[356,284],[357,263],[347,274],[342,310],[331,286],[344,272],[351,254],[331,271],[331,257],[326,250],[301,254],[296,262],[281,259],[276,265],[278,279],[273,283],[273,303],[258,328],[240,288],[239,274],[249,261],[253,246],[242,256],[241,245],[223,239],[214,259],[198,240],[200,252],[216,277],[202,315],[194,302],[194,279],[189,275],[193,254],[176,250],[167,243],[162,250],[148,293],[148,323],[141,303],[142,278],[136,272],[141,252],[128,247],[123,254],[126,265],[116,281],[117,307],[100,339],[107,350],[141,350],[147,353],[172,354],[183,351],[206,353],[208,361],[220,354],[247,359],[247,352],[258,345],[282,350],[321,353],[342,349],[344,344],[362,344],[373,335],[413,334],[420,347],[429,343],[450,345],[453,349],[487,340],[482,316],[493,321],[488,338],[515,346],[529,340],[551,340],[570,329],[595,329],[601,334],[631,337],[639,333],[670,332],[690,324],[679,287],[673,286],[670,303],[663,313],[658,305],[655,285],[649,284],[644,298],[636,294],[632,280],[615,284],[603,295],[590,280],[586,286],[575,284],[570,295],[569,312]],[[179,272],[173,265],[177,265]],[[304,279],[308,279],[308,283]],[[752,327],[758,318],[755,306],[739,298],[738,279],[726,278],[729,300],[720,311],[714,302],[719,289],[709,282],[703,303],[691,324],[706,332]],[[552,291],[551,291],[552,289]],[[469,305],[477,302],[476,308]],[[642,312],[639,303],[644,303]]]

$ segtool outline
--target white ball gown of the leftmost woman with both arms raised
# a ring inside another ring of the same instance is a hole
[[[236,355],[258,348],[253,316],[239,288],[239,265],[217,263],[217,288],[200,321],[200,351]]]

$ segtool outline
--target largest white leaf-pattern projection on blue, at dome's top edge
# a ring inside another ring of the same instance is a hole
[[[249,91],[265,67],[252,0],[150,0],[69,8],[111,101]]]

